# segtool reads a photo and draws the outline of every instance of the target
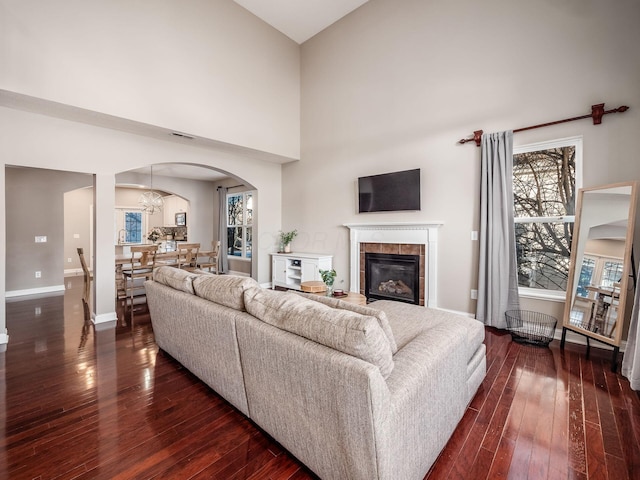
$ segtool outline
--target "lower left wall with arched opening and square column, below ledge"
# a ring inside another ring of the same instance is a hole
[[[37,141],[36,141],[37,140]],[[260,282],[270,280],[269,252],[275,251],[275,236],[281,224],[281,167],[236,153],[219,152],[199,146],[160,141],[139,135],[71,122],[21,110],[0,107],[0,169],[5,162],[37,168],[55,168],[70,172],[94,173],[96,186],[96,315],[109,318],[114,310],[114,222],[115,177],[118,172],[151,163],[203,165],[228,173],[238,181],[255,187],[260,219],[254,235],[254,276]],[[107,181],[110,179],[110,181]],[[103,190],[100,185],[104,184]],[[154,185],[156,184],[154,179]],[[2,188],[4,190],[4,182]],[[161,184],[158,188],[163,189]],[[5,207],[4,191],[0,211]],[[9,226],[0,224],[0,236]],[[209,235],[209,232],[203,233]],[[100,269],[102,265],[102,269]],[[111,266],[111,268],[109,268]],[[63,266],[58,269],[62,272]],[[0,276],[4,278],[6,257],[0,258]],[[100,284],[102,282],[102,285]],[[112,294],[113,293],[113,294]],[[102,296],[103,298],[100,298]],[[99,309],[102,310],[99,310]],[[5,327],[4,309],[0,311],[0,335]],[[1,338],[0,338],[1,340]]]

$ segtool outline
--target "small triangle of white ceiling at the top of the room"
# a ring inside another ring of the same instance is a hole
[[[368,0],[234,0],[255,16],[304,43]]]

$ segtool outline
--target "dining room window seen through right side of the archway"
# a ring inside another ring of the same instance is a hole
[[[254,192],[227,195],[227,255],[251,258]]]

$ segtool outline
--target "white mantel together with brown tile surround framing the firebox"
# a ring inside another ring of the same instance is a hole
[[[420,255],[420,305],[437,307],[438,229],[441,222],[346,224],[352,292],[364,294],[364,254]]]

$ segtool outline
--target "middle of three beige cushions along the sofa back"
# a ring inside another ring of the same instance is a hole
[[[251,287],[259,288],[258,282],[236,275],[197,275],[193,280],[197,296],[241,312],[245,311],[244,291]]]

